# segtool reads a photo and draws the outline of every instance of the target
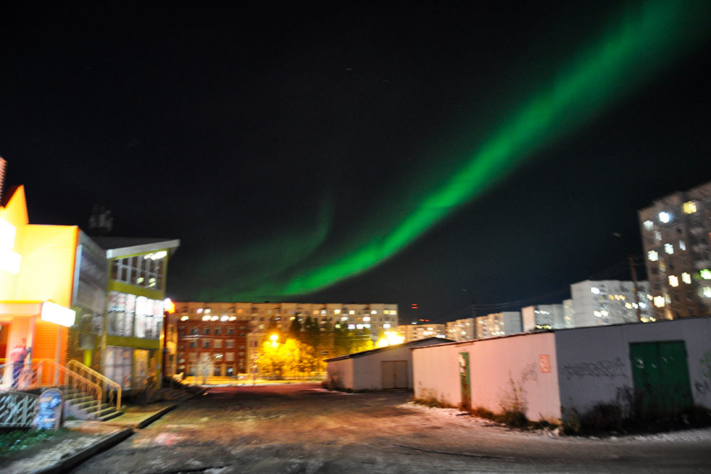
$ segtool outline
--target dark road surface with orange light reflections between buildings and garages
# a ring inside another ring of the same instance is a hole
[[[522,433],[406,392],[213,388],[73,473],[694,473],[711,430],[588,439]]]

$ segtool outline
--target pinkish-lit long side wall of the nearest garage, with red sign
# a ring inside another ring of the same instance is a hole
[[[417,348],[415,398],[461,404],[459,352],[469,352],[472,407],[499,413],[516,390],[529,419],[560,419],[554,333]]]

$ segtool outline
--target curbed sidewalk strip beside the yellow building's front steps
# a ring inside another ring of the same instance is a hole
[[[168,413],[196,394],[185,394],[175,400],[163,400],[143,406],[127,406],[122,415],[108,421],[65,421],[68,432],[59,441],[45,441],[41,446],[18,454],[8,465],[1,466],[4,474],[63,473],[100,451],[111,448]]]

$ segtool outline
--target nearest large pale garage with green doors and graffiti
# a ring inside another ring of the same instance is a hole
[[[634,394],[643,406],[711,408],[711,318],[470,340],[412,350],[415,398],[557,421]]]

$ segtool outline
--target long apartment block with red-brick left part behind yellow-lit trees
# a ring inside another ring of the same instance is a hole
[[[270,332],[288,333],[304,328],[307,318],[319,333],[355,329],[378,338],[397,327],[397,304],[387,303],[176,303],[178,315],[178,372],[193,375],[200,354],[212,355],[215,375],[250,371]],[[215,333],[215,331],[218,331]],[[197,336],[197,337],[196,337]],[[324,338],[324,351],[333,338]]]

